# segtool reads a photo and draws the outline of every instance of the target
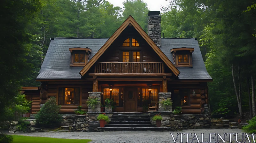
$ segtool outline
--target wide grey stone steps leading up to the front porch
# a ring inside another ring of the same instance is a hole
[[[114,112],[103,131],[164,131],[166,127],[151,124],[148,112]]]

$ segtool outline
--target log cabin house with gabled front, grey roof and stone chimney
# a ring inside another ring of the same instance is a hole
[[[31,113],[51,96],[61,113],[74,113],[79,105],[87,110],[88,92],[102,92],[102,104],[113,99],[116,112],[144,111],[158,93],[170,92],[182,113],[203,113],[212,78],[198,41],[161,38],[159,14],[148,12],[148,34],[129,16],[110,38],[51,38]]]

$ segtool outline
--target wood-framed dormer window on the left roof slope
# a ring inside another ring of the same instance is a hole
[[[70,67],[73,66],[85,66],[85,64],[89,60],[90,53],[92,50],[88,47],[81,48],[81,47],[74,47],[69,48],[70,51]]]

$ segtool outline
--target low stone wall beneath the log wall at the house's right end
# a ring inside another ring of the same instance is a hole
[[[206,114],[182,114],[183,129],[202,129],[210,128],[211,119]]]

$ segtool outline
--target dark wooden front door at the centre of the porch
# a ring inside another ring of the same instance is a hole
[[[124,88],[125,112],[136,111],[136,87]]]

